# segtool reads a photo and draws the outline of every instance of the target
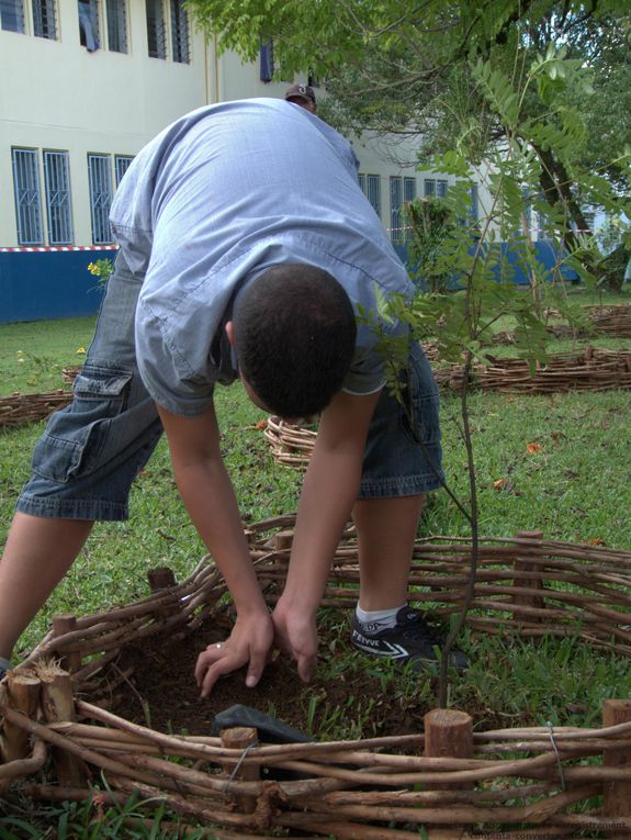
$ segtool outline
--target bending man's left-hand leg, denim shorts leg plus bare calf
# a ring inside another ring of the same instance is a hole
[[[119,254],[71,405],[47,422],[0,562],[0,658],[81,550],[92,523],[127,517],[129,488],[161,435],[136,367],[140,282]],[[0,662],[0,670],[8,662]]]

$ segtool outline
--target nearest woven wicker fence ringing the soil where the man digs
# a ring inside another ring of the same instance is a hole
[[[293,522],[248,526],[270,604],[284,581]],[[459,611],[470,562],[465,540],[417,544],[413,601],[431,602],[446,616]],[[349,534],[324,603],[351,606],[357,582]],[[436,709],[416,735],[284,744],[258,744],[247,728],[216,738],[167,735],[109,712],[106,701],[125,679],[112,668],[124,646],[156,634],[185,638],[225,608],[225,591],[204,559],[183,583],[128,606],[58,617],[0,685],[0,785],[19,780],[37,796],[79,798],[102,772],[108,796],[139,792],[216,827],[217,838],[289,831],[396,840],[418,837],[420,826],[437,840],[631,837],[628,699],[606,702],[602,728],[474,731],[464,712]],[[522,637],[578,635],[630,657],[630,611],[631,553],[547,541],[536,533],[482,542],[471,627]],[[50,664],[53,657],[61,667]],[[41,781],[50,760],[56,785]]]

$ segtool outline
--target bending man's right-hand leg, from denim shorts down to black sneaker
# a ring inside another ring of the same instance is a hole
[[[425,494],[442,481],[438,389],[420,347],[413,345],[402,378],[405,405],[384,392],[371,421],[358,530],[360,594],[351,642],[374,657],[413,662],[417,670],[437,661],[442,639],[407,606],[408,579]],[[466,665],[462,651],[450,661]]]

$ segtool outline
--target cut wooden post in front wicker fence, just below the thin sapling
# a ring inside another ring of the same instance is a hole
[[[435,708],[424,717],[425,755],[427,758],[473,758],[473,719],[466,712],[450,708]],[[449,789],[447,783],[427,785],[428,789]],[[471,784],[458,785],[459,789],[471,788]],[[429,840],[461,840],[464,826],[438,826],[429,830]]]

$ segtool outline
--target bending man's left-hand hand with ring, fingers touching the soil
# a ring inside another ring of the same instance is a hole
[[[261,679],[274,638],[268,613],[247,618],[237,617],[233,631],[224,642],[209,645],[195,665],[195,681],[207,697],[219,676],[248,665],[246,685],[252,688]]]

